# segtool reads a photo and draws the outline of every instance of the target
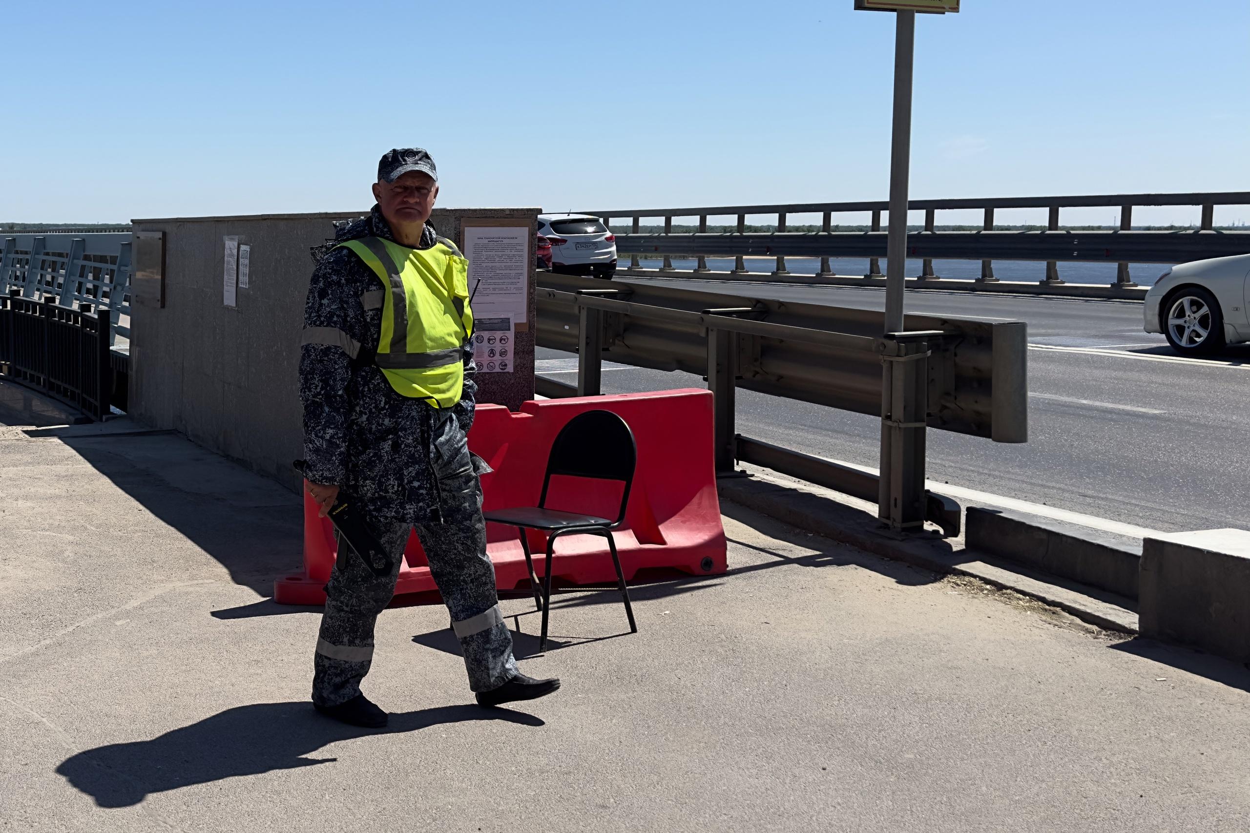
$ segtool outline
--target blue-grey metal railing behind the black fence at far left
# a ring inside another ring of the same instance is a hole
[[[0,294],[108,310],[109,343],[130,338],[130,233],[2,236]],[[124,319],[124,320],[122,320]]]

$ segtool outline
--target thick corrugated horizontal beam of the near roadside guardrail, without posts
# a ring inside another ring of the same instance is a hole
[[[794,304],[721,293],[539,273],[539,344],[578,351],[575,308],[550,291],[622,290],[618,298],[646,308],[608,310],[604,358],[656,370],[708,375],[706,316],[702,310],[736,309],[738,386],[816,405],[880,416],[880,354],[859,349],[881,338],[880,311]],[[618,304],[620,300],[616,301]],[[698,314],[690,318],[690,313]],[[719,319],[719,320],[722,320]],[[749,331],[755,324],[769,325]],[[784,325],[784,326],[781,326]],[[815,330],[828,340],[791,341],[786,329]],[[908,315],[906,329],[941,331],[930,340],[928,394],[930,428],[984,437],[999,443],[1028,440],[1026,326],[1020,321]]]

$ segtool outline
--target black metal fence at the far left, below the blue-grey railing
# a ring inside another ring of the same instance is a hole
[[[125,404],[129,356],[118,359],[109,348],[108,314],[101,323],[88,304],[72,309],[16,290],[0,295],[0,379],[39,388],[102,419],[118,404],[115,391]]]

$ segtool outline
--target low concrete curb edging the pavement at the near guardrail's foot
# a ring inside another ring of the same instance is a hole
[[[744,505],[792,527],[850,544],[874,555],[904,562],[935,573],[969,575],[1015,590],[1059,608],[1089,624],[1136,635],[1138,614],[1131,599],[1099,592],[1058,577],[1034,573],[969,552],[958,539],[936,534],[894,535],[875,514],[830,490],[782,483],[768,474],[718,482],[722,500]]]

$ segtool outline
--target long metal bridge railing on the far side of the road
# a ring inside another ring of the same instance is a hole
[[[1135,231],[1132,211],[1141,206],[1198,206],[1201,211],[1200,226],[1195,230]],[[1129,273],[1130,263],[1184,263],[1204,258],[1250,253],[1250,233],[1216,231],[1215,206],[1250,205],[1250,191],[1220,191],[1192,194],[1116,194],[1081,196],[1021,196],[984,199],[912,200],[909,210],[924,211],[922,230],[908,234],[908,256],[922,260],[919,283],[940,281],[934,271],[934,260],[980,260],[981,274],[972,288],[991,288],[999,283],[994,276],[995,260],[1045,261],[1045,275],[1039,288],[1061,288],[1060,261],[1116,263],[1119,265],[1114,289],[1129,290],[1136,286]],[[1061,211],[1079,208],[1116,208],[1120,210],[1118,230],[1065,230],[1060,228]],[[1041,231],[995,230],[995,211],[1008,209],[1046,209],[1048,224]],[[784,205],[712,205],[701,208],[660,208],[588,211],[604,218],[616,235],[616,249],[630,255],[629,270],[640,270],[640,255],[662,256],[659,271],[674,275],[710,273],[709,256],[735,259],[730,275],[749,273],[746,256],[775,258],[772,276],[786,276],[788,256],[820,258],[818,278],[851,278],[836,275],[831,268],[834,258],[868,258],[869,270],[862,275],[868,281],[884,280],[881,258],[886,254],[886,233],[882,231],[881,214],[889,210],[886,201],[859,203],[791,203]],[[979,231],[939,231],[939,211],[982,211]],[[836,214],[868,213],[871,218],[869,231],[834,231]],[[821,215],[819,233],[792,233],[786,230],[788,219],[795,214]],[[775,215],[776,231],[752,233],[746,230],[746,218]],[[708,218],[736,216],[738,228],[729,233],[709,233]],[[674,219],[698,218],[698,231],[674,233]],[[644,234],[642,219],[662,219],[662,233]],[[616,220],[616,225],[612,225]],[[621,220],[629,220],[628,231],[620,230]],[[674,256],[698,258],[694,270],[679,271],[672,266]],[[1131,296],[1131,295],[1130,295]]]

